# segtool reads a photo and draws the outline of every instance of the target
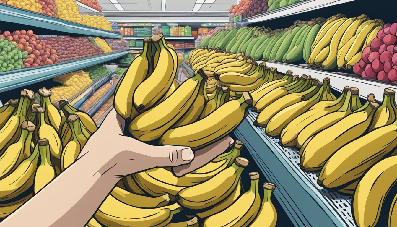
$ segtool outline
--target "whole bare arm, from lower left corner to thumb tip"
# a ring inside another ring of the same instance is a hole
[[[153,167],[183,165],[193,159],[189,147],[150,146],[123,136],[123,121],[113,109],[75,163],[0,227],[82,227],[121,177]]]

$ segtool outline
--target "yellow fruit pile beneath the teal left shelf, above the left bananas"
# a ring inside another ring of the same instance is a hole
[[[51,89],[52,102],[59,101],[62,98],[70,99],[93,83],[88,73],[84,71],[70,72],[68,74],[57,76],[52,80],[63,84],[63,86],[53,87]]]

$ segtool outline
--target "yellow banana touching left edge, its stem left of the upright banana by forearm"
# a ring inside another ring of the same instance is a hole
[[[46,139],[44,139],[47,141]],[[44,140],[39,140],[41,144]],[[33,185],[33,180],[39,158],[39,147],[36,146],[32,154],[18,165],[18,167],[7,177],[0,180],[0,201],[11,200]]]

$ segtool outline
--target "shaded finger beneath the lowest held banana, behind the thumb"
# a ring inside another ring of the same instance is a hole
[[[233,146],[233,144],[234,140],[230,136],[225,136],[221,140],[195,151],[195,159],[191,163],[173,167],[172,171],[177,177],[195,171],[223,153],[227,147]]]

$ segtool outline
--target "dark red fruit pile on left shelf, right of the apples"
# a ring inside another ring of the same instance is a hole
[[[60,62],[104,53],[100,47],[92,44],[87,37],[58,36],[45,37],[42,40],[56,50]]]

